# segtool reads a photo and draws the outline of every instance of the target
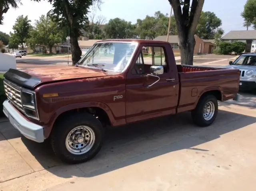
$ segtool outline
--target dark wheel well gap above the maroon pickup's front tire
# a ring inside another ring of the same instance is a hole
[[[66,118],[70,115],[76,115],[76,113],[90,113],[94,115],[97,119],[99,119],[103,126],[107,126],[111,124],[108,114],[106,113],[106,111],[104,111],[100,107],[83,107],[79,109],[72,109],[69,111],[65,111],[64,113],[61,113],[57,117],[54,124],[58,123],[58,121],[60,121],[63,117]]]

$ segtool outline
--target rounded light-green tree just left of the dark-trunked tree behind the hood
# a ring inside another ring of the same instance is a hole
[[[48,46],[50,54],[55,44],[66,40],[66,34],[50,16],[40,16],[39,20],[36,20],[35,29],[31,30],[30,34],[32,35],[28,40],[30,46],[32,48],[37,44]]]

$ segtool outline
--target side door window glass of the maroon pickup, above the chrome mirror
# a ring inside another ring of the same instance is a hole
[[[166,64],[166,56],[164,48],[153,46],[152,56],[143,56],[142,51],[132,69],[132,74],[150,74],[150,66],[164,66],[164,73],[168,72],[168,65]]]

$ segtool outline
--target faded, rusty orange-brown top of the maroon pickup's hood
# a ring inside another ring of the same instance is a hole
[[[40,66],[21,71],[40,78],[42,82],[108,76],[107,72],[75,66]]]

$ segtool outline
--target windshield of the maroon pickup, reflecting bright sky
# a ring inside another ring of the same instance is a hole
[[[136,49],[137,43],[96,43],[78,62],[78,66],[123,72]],[[96,65],[100,66],[97,67]]]

